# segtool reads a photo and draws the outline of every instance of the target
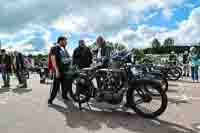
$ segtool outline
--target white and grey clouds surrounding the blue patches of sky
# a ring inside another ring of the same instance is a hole
[[[173,9],[187,0],[7,0],[0,1],[0,38],[16,38],[24,35],[27,37],[16,44],[30,43],[40,33],[43,40],[41,45],[48,50],[51,46],[50,31],[54,27],[69,33],[92,32],[97,34],[112,33],[109,39],[127,43],[129,47],[146,47],[154,37],[162,40],[172,36],[177,41],[191,41],[199,38],[199,11],[194,10],[188,20],[179,24],[178,29],[169,31],[167,28],[140,25],[137,30],[128,28],[130,18],[136,23],[148,21],[158,15],[155,11],[145,16],[145,11],[161,10],[163,15],[170,18]],[[199,9],[198,9],[199,10]],[[14,34],[16,33],[16,34]],[[93,42],[86,38],[87,44]],[[12,45],[12,41],[6,45]],[[31,47],[29,47],[31,48]],[[43,50],[43,49],[42,49]]]

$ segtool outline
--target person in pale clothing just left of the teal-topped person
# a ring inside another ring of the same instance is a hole
[[[187,77],[190,75],[189,60],[189,52],[185,51],[183,54],[183,76]]]

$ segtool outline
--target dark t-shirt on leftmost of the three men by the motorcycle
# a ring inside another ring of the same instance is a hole
[[[51,49],[51,55],[56,57],[57,67],[61,74],[68,71],[71,62],[67,50],[62,49],[60,46],[55,46]]]

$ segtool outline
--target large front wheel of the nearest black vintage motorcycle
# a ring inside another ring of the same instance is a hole
[[[156,118],[167,108],[168,98],[158,82],[135,81],[127,92],[128,105],[144,118]]]

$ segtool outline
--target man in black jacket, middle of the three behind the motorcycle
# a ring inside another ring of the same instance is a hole
[[[84,40],[79,41],[78,48],[73,53],[73,65],[77,65],[80,69],[90,67],[92,64],[92,53],[85,45]]]

